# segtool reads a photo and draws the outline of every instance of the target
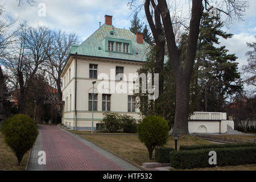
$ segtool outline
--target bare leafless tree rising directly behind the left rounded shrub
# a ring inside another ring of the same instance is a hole
[[[32,28],[26,24],[20,25],[16,32],[16,42],[13,44],[12,54],[6,59],[9,73],[17,83],[19,93],[18,107],[20,113],[26,111],[26,86],[30,77],[34,77],[42,63],[47,60],[45,47],[48,43],[49,31],[46,27]]]

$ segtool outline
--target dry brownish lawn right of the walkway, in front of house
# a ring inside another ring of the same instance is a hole
[[[155,160],[150,160],[148,157],[147,148],[139,140],[138,136],[135,135],[80,135],[81,137],[91,140],[92,142],[98,144],[102,148],[106,148],[116,154],[123,156],[132,162],[139,164],[140,166],[144,162],[155,162]],[[207,140],[201,138],[184,136],[179,137],[177,142],[177,147],[179,150],[180,145],[192,145],[192,144],[212,144]],[[166,144],[166,147],[175,147],[174,137],[170,137]],[[154,154],[153,154],[154,158]]]

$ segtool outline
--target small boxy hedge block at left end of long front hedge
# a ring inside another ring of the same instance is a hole
[[[169,153],[171,151],[174,151],[174,148],[156,147],[155,148],[155,160],[159,163],[170,163]]]

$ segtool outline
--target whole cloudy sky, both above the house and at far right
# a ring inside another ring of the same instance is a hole
[[[97,30],[99,22],[104,23],[105,14],[113,15],[113,25],[118,28],[128,29],[132,18],[132,10],[127,6],[129,0],[35,0],[33,6],[23,1],[23,5],[18,7],[17,0],[0,0],[0,4],[5,4],[4,17],[18,19],[18,22],[26,20],[33,27],[43,25],[55,30],[76,32],[82,41]],[[42,13],[42,5],[45,6],[46,16]],[[240,67],[247,63],[245,53],[249,49],[246,42],[253,42],[256,35],[256,1],[249,0],[249,5],[243,16],[244,21],[234,20],[229,27],[225,27],[225,31],[234,34],[233,38],[221,39],[221,45],[236,53]],[[141,18],[144,18],[143,11]]]

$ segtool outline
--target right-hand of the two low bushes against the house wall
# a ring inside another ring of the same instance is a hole
[[[122,128],[124,133],[137,133],[137,123],[130,115],[121,116]]]

